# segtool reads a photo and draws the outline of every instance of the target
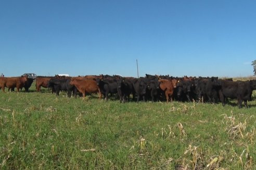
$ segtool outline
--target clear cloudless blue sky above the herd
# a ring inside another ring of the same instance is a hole
[[[0,1],[0,72],[253,75],[256,1]]]

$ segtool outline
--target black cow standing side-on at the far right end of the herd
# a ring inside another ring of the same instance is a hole
[[[221,89],[219,90],[220,100],[224,106],[225,97],[236,98],[238,107],[242,107],[244,101],[245,107],[248,108],[247,101],[251,100],[252,91],[256,90],[256,81],[227,81],[221,80]]]

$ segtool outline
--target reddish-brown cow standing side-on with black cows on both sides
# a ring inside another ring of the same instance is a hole
[[[99,98],[101,98],[101,93],[95,79],[79,80],[72,78],[70,84],[74,85],[80,93],[83,93],[83,99],[85,97],[85,93],[99,93]]]

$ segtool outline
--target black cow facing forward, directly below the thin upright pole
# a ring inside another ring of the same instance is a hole
[[[149,80],[145,77],[140,77],[133,80],[133,88],[137,96],[137,102],[139,101],[140,97],[142,97],[143,101],[145,102],[148,81]]]

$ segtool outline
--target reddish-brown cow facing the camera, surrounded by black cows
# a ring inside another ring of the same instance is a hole
[[[165,97],[167,103],[169,102],[169,96],[171,97],[171,102],[173,98],[173,91],[176,88],[176,84],[178,82],[177,79],[159,79],[160,82],[159,87],[165,93]]]

